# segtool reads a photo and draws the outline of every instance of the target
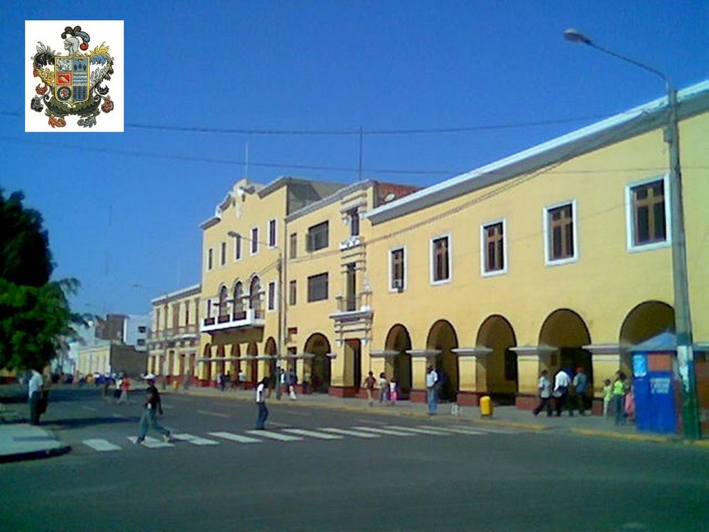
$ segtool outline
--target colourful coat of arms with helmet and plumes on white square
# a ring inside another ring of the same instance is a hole
[[[113,74],[113,57],[106,43],[87,51],[91,37],[81,26],[64,28],[62,39],[66,55],[38,42],[37,53],[31,57],[33,76],[41,82],[35,87],[30,109],[45,111],[52,128],[66,126],[68,115],[78,115],[77,124],[91,128],[101,112],[113,110],[106,83]]]

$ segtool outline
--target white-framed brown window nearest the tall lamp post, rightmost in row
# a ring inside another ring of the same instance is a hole
[[[667,208],[664,179],[630,187],[632,246],[667,241]]]

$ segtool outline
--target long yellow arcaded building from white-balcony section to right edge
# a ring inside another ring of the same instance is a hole
[[[709,345],[709,82],[679,93],[688,284]],[[284,177],[235,184],[203,229],[199,379],[294,367],[359,393],[372,370],[423,400],[536,401],[542,370],[629,375],[674,331],[665,99],[422,190]]]

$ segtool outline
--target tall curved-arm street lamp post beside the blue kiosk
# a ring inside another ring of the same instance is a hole
[[[679,160],[679,126],[677,118],[677,91],[669,79],[642,62],[625,57],[594,43],[578,30],[564,31],[564,38],[571,43],[581,43],[612,55],[631,65],[652,72],[662,79],[667,94],[667,125],[664,140],[669,148],[670,225],[672,238],[672,283],[674,286],[674,323],[677,338],[677,362],[682,380],[682,419],[686,438],[701,436],[698,416],[696,375],[694,370],[692,321],[689,311],[689,284],[687,280],[687,252],[684,233],[684,209],[682,203],[682,172]]]

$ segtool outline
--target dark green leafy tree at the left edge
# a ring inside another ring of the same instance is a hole
[[[24,194],[0,189],[0,367],[43,367],[73,326],[86,325],[68,296],[77,279],[50,281],[54,265],[42,215],[23,206]]]

